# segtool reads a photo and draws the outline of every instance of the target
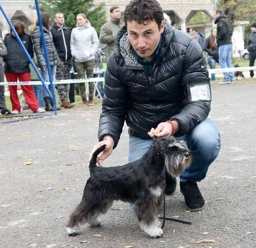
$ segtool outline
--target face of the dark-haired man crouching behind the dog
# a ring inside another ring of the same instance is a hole
[[[141,58],[149,61],[152,59],[164,27],[164,21],[160,29],[155,20],[145,21],[143,24],[138,24],[136,21],[127,22],[128,37],[132,48]]]

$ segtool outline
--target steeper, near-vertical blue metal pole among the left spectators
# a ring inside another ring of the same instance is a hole
[[[49,81],[50,81],[50,88],[51,88],[51,92],[52,92],[52,94],[50,94],[50,97],[51,97],[51,100],[52,100],[53,105],[54,105],[54,113],[57,114],[57,106],[56,106],[56,99],[55,99],[55,93],[54,93],[55,88],[54,88],[54,84],[53,84],[53,78],[52,78],[51,69],[50,69],[49,57],[48,57],[46,44],[45,44],[45,36],[44,36],[44,30],[43,30],[43,25],[42,25],[41,13],[40,13],[39,5],[38,5],[38,0],[35,0],[35,5],[36,5],[36,10],[37,10],[37,16],[38,16],[38,24],[39,24],[40,33],[41,33],[41,40],[42,40],[42,44],[43,44],[44,52],[45,52],[46,68],[47,68],[47,71],[48,71]],[[50,30],[48,32],[50,32]]]

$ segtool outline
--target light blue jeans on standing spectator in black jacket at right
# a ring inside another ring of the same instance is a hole
[[[231,68],[232,67],[232,44],[219,46],[219,64],[221,68]],[[224,81],[233,81],[233,72],[223,72]]]

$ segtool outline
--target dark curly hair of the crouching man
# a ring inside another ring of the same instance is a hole
[[[136,21],[138,24],[155,20],[160,28],[164,20],[163,10],[156,0],[132,0],[124,10],[124,24],[128,21]]]

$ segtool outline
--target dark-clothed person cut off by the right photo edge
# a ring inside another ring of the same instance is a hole
[[[247,50],[249,52],[249,66],[254,66],[256,59],[256,22],[252,24],[252,32],[248,36]],[[254,76],[253,70],[250,71],[250,76]]]

